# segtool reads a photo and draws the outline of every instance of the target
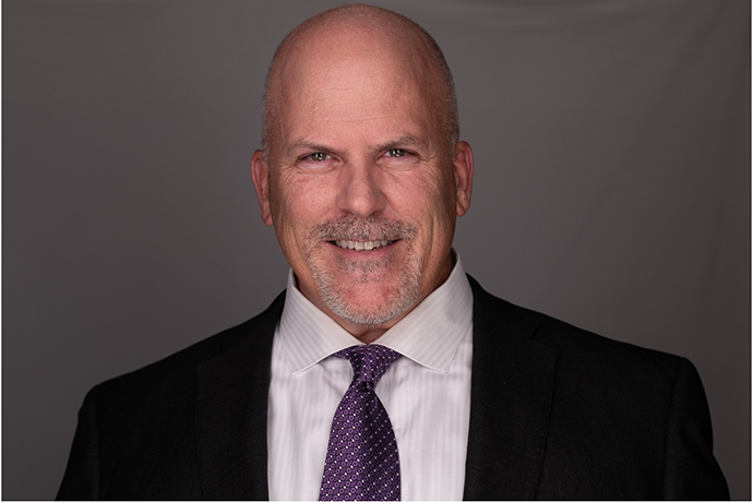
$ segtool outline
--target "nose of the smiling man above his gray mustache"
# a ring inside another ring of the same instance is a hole
[[[383,174],[373,163],[344,165],[338,172],[337,207],[361,218],[383,211],[387,202],[383,181]]]

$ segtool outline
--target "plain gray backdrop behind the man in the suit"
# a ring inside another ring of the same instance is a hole
[[[3,497],[55,495],[94,384],[287,265],[249,163],[276,45],[343,2],[3,2]],[[750,498],[750,3],[384,0],[445,51],[490,291],[689,357]]]

